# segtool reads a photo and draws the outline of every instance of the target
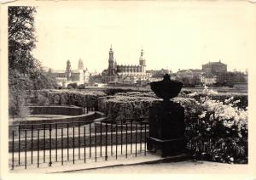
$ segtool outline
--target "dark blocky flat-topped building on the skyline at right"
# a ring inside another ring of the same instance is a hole
[[[202,65],[202,71],[205,74],[213,74],[214,76],[220,73],[227,72],[227,65],[222,63],[220,60],[218,62],[209,62],[205,65]]]

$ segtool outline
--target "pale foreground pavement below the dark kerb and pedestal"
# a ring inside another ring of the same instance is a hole
[[[149,155],[148,155],[149,156]],[[148,157],[147,157],[148,158]],[[147,159],[145,158],[145,159]],[[247,175],[247,165],[224,164],[209,161],[185,160],[180,162],[143,164],[132,166],[113,166],[93,170],[80,170],[71,173],[92,174],[215,174],[215,175]]]

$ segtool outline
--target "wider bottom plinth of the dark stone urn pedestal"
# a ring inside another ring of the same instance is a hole
[[[185,153],[185,140],[184,138],[162,140],[147,137],[147,149],[151,153],[160,154],[161,157],[180,155]]]

